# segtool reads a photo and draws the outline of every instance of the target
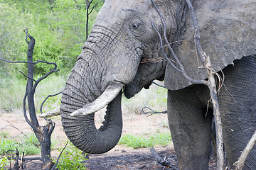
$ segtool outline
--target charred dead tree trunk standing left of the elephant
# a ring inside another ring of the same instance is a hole
[[[28,38],[30,39],[29,41],[28,41]],[[48,77],[48,75],[52,74],[53,72],[58,72],[58,70],[56,70],[57,65],[55,63],[44,62],[46,64],[53,64],[55,65],[55,67],[46,75],[39,78],[38,80],[33,79],[34,65],[37,64],[38,62],[43,62],[43,61],[33,62],[33,48],[36,44],[36,40],[31,35],[28,34],[27,28],[26,28],[26,42],[28,43],[28,52],[27,52],[28,75],[26,76],[28,78],[28,81],[26,85],[26,94],[23,98],[23,114],[24,114],[24,118],[26,119],[26,122],[28,123],[28,125],[31,126],[31,128],[33,129],[33,132],[36,134],[36,137],[38,138],[38,141],[40,142],[43,169],[48,170],[51,168],[51,166],[53,166],[53,162],[50,158],[50,145],[51,145],[50,136],[53,132],[53,129],[55,128],[55,123],[50,119],[46,119],[47,125],[45,126],[39,125],[38,119],[36,118],[34,94],[35,94],[36,86],[38,85],[38,83],[41,80],[46,79],[46,77]],[[26,115],[26,98],[28,101],[28,113],[29,113],[30,120]]]

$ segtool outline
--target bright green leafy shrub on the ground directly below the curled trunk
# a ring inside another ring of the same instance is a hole
[[[60,148],[60,152],[63,148]],[[85,153],[74,145],[66,147],[63,153],[60,156],[57,168],[59,170],[68,170],[68,169],[86,169],[85,166]],[[54,162],[55,163],[55,162]]]

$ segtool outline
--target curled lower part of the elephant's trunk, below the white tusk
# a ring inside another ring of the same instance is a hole
[[[63,128],[75,147],[90,154],[102,154],[112,149],[122,135],[121,93],[107,106],[105,122],[95,127],[94,113],[83,117],[61,114]]]

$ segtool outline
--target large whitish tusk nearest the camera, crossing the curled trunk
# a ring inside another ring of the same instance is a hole
[[[100,109],[107,106],[119,94],[119,92],[122,91],[123,86],[124,84],[119,81],[112,81],[102,95],[100,95],[95,101],[74,111],[71,113],[71,116],[89,115],[100,111]]]

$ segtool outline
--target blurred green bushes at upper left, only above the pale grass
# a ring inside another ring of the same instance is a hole
[[[89,32],[103,5],[96,3],[89,17]],[[26,60],[27,44],[23,29],[36,39],[33,60],[56,62],[60,72],[70,72],[80,55],[86,39],[86,1],[85,0],[3,0],[0,1],[0,57],[11,61]],[[0,62],[1,77],[26,72],[26,64]],[[45,74],[50,65],[37,64],[35,74]]]

